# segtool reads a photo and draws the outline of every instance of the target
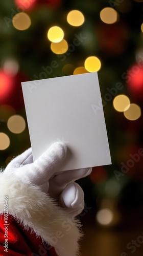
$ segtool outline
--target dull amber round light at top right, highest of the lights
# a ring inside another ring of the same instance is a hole
[[[100,18],[104,23],[113,24],[117,22],[118,13],[111,7],[106,7],[100,12]]]

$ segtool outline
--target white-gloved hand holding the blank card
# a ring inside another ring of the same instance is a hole
[[[84,193],[75,181],[89,175],[91,168],[59,172],[66,151],[65,144],[56,142],[33,162],[32,149],[29,148],[7,165],[5,173],[10,172],[23,182],[38,185],[44,193],[56,199],[59,206],[76,216],[84,208]]]

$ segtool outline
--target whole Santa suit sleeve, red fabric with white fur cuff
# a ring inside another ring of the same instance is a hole
[[[78,220],[38,185],[0,173],[0,255],[76,256]]]

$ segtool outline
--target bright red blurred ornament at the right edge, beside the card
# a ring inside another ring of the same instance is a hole
[[[135,97],[143,98],[143,67],[135,63],[125,74],[129,91]]]

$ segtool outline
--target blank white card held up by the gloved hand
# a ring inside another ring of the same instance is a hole
[[[60,170],[111,164],[97,72],[21,84],[34,161],[63,141]]]

